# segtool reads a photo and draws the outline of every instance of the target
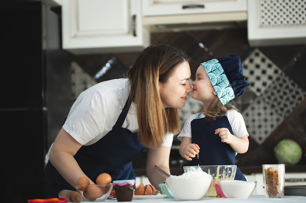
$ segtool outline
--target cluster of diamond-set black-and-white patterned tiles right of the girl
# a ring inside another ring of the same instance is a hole
[[[257,97],[242,115],[250,136],[262,142],[306,97],[298,85],[255,49],[243,62],[243,73]]]

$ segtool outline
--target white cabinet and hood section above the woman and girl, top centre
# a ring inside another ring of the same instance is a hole
[[[142,0],[143,25],[151,32],[246,26],[246,0]]]

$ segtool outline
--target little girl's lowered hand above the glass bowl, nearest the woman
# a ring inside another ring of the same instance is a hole
[[[200,152],[200,147],[191,143],[190,137],[182,137],[182,142],[179,146],[179,154],[187,161],[191,161]]]

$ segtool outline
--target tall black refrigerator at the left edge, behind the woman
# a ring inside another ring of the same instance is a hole
[[[44,198],[44,156],[72,104],[71,55],[60,8],[1,3],[0,25],[1,202],[26,203]]]

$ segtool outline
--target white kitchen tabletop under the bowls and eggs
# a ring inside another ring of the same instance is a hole
[[[105,202],[117,202],[116,199]],[[284,196],[283,198],[266,198],[264,195],[252,195],[250,198],[203,198],[201,200],[176,201],[175,199],[132,200],[135,203],[306,203],[304,196]],[[93,203],[93,202],[82,202]],[[118,202],[117,202],[118,203]]]

